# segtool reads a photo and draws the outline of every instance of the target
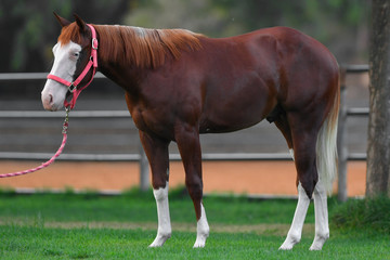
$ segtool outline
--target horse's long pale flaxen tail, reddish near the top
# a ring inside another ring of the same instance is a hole
[[[332,108],[320,129],[316,141],[316,167],[318,178],[328,194],[332,193],[333,182],[338,170],[337,158],[337,125],[340,106],[340,88],[337,86],[336,96]]]

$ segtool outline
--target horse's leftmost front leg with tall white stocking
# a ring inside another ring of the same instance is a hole
[[[160,247],[170,238],[172,233],[168,203],[169,141],[151,136],[141,131],[140,140],[151,164],[153,195],[157,205],[157,235],[150,247]]]

